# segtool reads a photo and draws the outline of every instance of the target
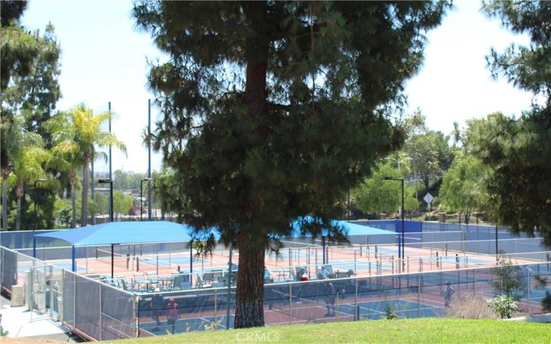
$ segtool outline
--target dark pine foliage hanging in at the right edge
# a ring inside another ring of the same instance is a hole
[[[488,190],[495,214],[515,232],[545,237],[551,245],[551,2],[485,1],[486,14],[530,46],[511,45],[487,56],[494,76],[544,98],[519,118],[492,114],[473,135],[475,153],[492,169]]]

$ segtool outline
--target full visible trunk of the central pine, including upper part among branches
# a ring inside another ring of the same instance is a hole
[[[269,40],[265,32],[267,4],[260,1],[246,3],[245,14],[251,28],[256,32],[247,39],[246,56],[247,70],[245,82],[245,103],[247,116],[260,118],[266,115],[266,78],[269,55]],[[257,128],[264,130],[263,127]],[[250,199],[246,201],[251,206],[249,211],[260,213],[258,207],[262,200],[254,195],[253,182],[250,183]],[[248,207],[248,206],[247,206]],[[245,216],[245,221],[247,221]],[[251,233],[252,228],[242,226],[238,237],[239,270],[236,289],[236,320],[235,327],[264,326],[264,244],[258,235]],[[247,237],[247,234],[253,234]],[[255,237],[256,236],[256,237]]]

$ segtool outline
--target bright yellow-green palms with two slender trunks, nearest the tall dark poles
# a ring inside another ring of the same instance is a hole
[[[114,146],[126,153],[125,144],[117,140],[114,134],[104,131],[102,125],[110,120],[111,114],[103,112],[96,114],[85,105],[77,105],[70,111],[62,112],[52,118],[50,131],[56,145],[54,150],[65,154],[70,163],[69,184],[73,208],[73,223],[76,227],[76,169],[82,167],[82,208],[81,226],[86,226],[88,215],[88,184],[90,177],[90,162],[94,158],[107,160],[107,155],[98,152],[103,147]]]

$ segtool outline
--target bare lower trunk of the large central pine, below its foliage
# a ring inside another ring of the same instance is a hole
[[[264,246],[238,239],[239,269],[236,290],[235,328],[264,326]]]

